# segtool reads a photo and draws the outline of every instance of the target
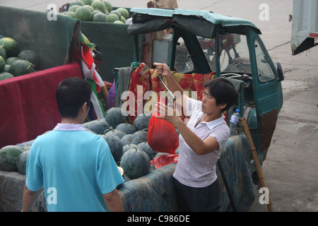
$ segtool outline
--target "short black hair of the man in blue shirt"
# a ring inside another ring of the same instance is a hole
[[[56,99],[63,118],[76,118],[84,103],[90,106],[92,88],[88,81],[78,77],[65,78],[57,87]]]

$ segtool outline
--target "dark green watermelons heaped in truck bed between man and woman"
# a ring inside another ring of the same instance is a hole
[[[163,155],[147,143],[147,129],[151,114],[140,114],[134,124],[129,124],[120,107],[112,107],[105,113],[105,119],[96,119],[83,124],[87,131],[104,138],[110,146],[112,156],[125,181],[137,179],[152,169],[151,160]],[[33,140],[34,141],[34,140]],[[0,170],[17,171],[25,174],[28,152],[33,141],[8,145],[0,149]]]

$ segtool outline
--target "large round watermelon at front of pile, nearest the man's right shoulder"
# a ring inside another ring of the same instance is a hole
[[[148,155],[141,149],[133,147],[122,155],[120,167],[130,179],[143,177],[150,171],[151,163]]]

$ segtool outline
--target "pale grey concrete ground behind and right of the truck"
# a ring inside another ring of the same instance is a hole
[[[48,4],[62,6],[64,0],[1,0],[1,6],[45,11]],[[71,2],[71,1],[69,1]],[[147,0],[110,2],[114,6],[146,7]],[[283,67],[284,103],[278,115],[267,159],[262,172],[276,212],[318,211],[318,47],[296,56],[291,54],[290,37],[293,0],[179,0],[179,8],[208,10],[227,16],[246,18],[260,28],[261,38],[273,61]],[[265,4],[265,5],[264,5]],[[264,16],[268,6],[268,18]],[[261,17],[260,17],[261,16]],[[268,19],[268,20],[267,20]],[[251,212],[266,212],[257,197]]]

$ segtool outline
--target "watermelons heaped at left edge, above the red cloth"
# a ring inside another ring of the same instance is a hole
[[[30,49],[20,51],[12,37],[0,35],[0,81],[33,73],[40,68],[40,57]]]

